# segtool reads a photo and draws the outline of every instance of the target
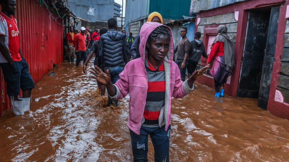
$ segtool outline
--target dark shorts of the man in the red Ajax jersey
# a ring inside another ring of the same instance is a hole
[[[1,63],[0,65],[7,83],[7,94],[9,96],[18,96],[20,94],[20,88],[22,91],[34,88],[34,82],[29,73],[28,64],[24,59],[14,61],[13,67],[11,67],[9,63]]]

